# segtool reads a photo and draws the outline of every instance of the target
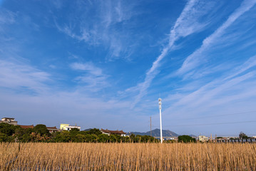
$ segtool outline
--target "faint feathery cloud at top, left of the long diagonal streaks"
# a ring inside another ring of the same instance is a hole
[[[130,56],[133,51],[133,41],[130,41],[129,31],[126,30],[126,21],[136,14],[133,11],[134,3],[93,1],[79,2],[77,6],[78,10],[83,11],[83,15],[70,19],[64,25],[56,21],[58,31],[91,46],[104,46],[109,51],[106,56],[108,61]],[[93,15],[84,11],[90,11]]]

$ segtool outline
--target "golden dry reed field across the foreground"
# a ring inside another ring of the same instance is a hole
[[[0,170],[256,170],[256,144],[0,143]]]

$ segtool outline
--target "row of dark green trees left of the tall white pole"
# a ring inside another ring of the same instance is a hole
[[[72,129],[49,133],[46,125],[21,128],[19,125],[0,123],[0,142],[159,142],[148,135],[106,135],[96,128],[88,131]]]

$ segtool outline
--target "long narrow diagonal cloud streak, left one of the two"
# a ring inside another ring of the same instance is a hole
[[[201,31],[203,28],[205,28],[205,26],[208,25],[208,21],[203,22],[202,19],[206,14],[208,14],[211,6],[212,2],[197,0],[188,1],[182,13],[176,20],[173,28],[170,30],[168,45],[163,48],[160,56],[156,58],[149,71],[145,74],[145,80],[143,83],[138,84],[140,90],[139,94],[135,97],[132,108],[146,94],[146,90],[150,86],[150,83],[158,74],[158,68],[161,65],[160,62],[163,60],[163,58],[165,58],[165,56],[168,55],[168,52],[175,47],[175,42],[178,41],[179,38],[183,38],[189,36],[190,34]]]

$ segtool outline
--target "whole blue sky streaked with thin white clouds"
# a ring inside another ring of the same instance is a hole
[[[0,113],[21,125],[255,135],[256,1],[0,1]]]

